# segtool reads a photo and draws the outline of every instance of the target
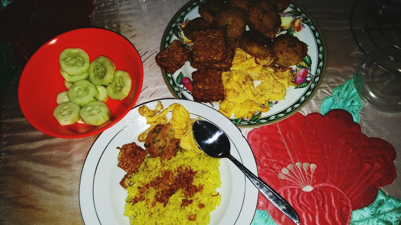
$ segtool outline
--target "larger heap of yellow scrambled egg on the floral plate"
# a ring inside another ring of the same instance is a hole
[[[221,74],[225,99],[219,112],[226,117],[251,118],[269,110],[268,101],[284,100],[292,85],[292,70],[278,71],[271,60],[258,60],[241,48],[235,48],[230,71]]]

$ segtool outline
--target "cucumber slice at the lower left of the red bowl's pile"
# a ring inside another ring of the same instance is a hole
[[[81,108],[74,102],[63,102],[53,110],[53,116],[61,126],[74,124],[79,120]]]

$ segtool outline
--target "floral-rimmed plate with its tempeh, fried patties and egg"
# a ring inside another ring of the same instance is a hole
[[[323,79],[320,28],[290,0],[192,0],[168,24],[155,60],[175,98],[238,127],[294,114]]]

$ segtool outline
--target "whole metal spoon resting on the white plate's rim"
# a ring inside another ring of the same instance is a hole
[[[219,127],[208,121],[195,121],[192,133],[199,148],[213,158],[229,158],[255,185],[257,189],[284,215],[294,223],[300,224],[300,217],[295,209],[274,189],[255,176],[230,154],[230,141]]]

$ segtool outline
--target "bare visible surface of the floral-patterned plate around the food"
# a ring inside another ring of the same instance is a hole
[[[182,28],[189,20],[199,17],[198,4],[203,1],[192,0],[174,15],[164,32],[160,51],[176,39],[187,45],[191,44],[190,40],[183,36]],[[302,6],[294,1],[280,13],[280,16],[285,17],[282,18],[280,34],[290,33],[308,44],[308,55],[298,65],[292,66],[296,73],[295,80],[301,85],[290,86],[285,100],[269,102],[270,110],[267,112],[255,112],[252,118],[229,118],[238,127],[260,127],[289,117],[312,98],[323,80],[327,57],[326,46],[316,22]],[[174,74],[162,70],[164,80],[175,98],[193,100],[191,73],[195,70],[189,62],[186,62]],[[219,110],[219,102],[205,104]]]

